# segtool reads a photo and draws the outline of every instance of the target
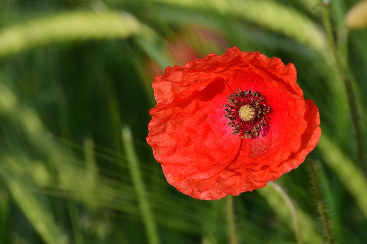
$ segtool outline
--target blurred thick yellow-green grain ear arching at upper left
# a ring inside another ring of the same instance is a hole
[[[128,38],[154,32],[132,15],[115,11],[74,11],[30,19],[0,30],[0,58],[51,43]]]

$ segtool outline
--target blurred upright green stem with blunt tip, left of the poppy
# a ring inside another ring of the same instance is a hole
[[[125,126],[122,128],[122,138],[125,147],[126,158],[130,167],[131,180],[137,194],[140,212],[145,225],[146,234],[150,244],[158,244],[159,238],[156,230],[156,224],[153,218],[152,210],[149,206],[143,179],[139,170],[138,157],[135,153],[132,142],[131,130]]]

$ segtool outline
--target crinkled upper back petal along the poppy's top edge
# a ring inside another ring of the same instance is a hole
[[[233,66],[242,70],[252,69],[265,80],[273,82],[273,85],[303,95],[296,83],[297,71],[292,63],[284,65],[279,58],[268,58],[259,52],[241,52],[233,47],[219,56],[210,53],[203,59],[191,60],[182,67],[167,67],[164,74],[156,76],[153,82],[155,99],[157,103],[165,102],[168,97],[192,85],[220,77]]]

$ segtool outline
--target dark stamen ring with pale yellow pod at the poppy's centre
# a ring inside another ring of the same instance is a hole
[[[266,126],[268,117],[265,116],[270,107],[265,104],[265,97],[261,93],[241,91],[228,96],[228,104],[223,105],[227,111],[225,118],[229,119],[228,126],[233,127],[232,134],[239,134],[241,138],[258,137],[262,127]]]

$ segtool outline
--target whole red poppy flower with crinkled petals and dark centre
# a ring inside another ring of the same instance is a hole
[[[296,74],[292,63],[233,47],[156,76],[146,140],[168,183],[213,200],[297,168],[321,129]]]

